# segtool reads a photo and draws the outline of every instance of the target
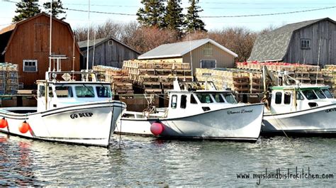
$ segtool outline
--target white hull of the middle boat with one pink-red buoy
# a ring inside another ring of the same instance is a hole
[[[179,118],[121,118],[116,133],[154,136],[150,127],[159,122],[164,127],[159,137],[257,140],[263,108],[263,104],[251,104]]]

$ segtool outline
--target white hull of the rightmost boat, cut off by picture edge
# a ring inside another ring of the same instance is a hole
[[[264,114],[262,135],[336,136],[336,104],[287,114]]]

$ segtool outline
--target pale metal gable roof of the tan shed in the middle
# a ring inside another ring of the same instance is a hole
[[[181,57],[186,53],[195,50],[196,48],[204,45],[206,43],[211,43],[221,50],[228,52],[230,55],[237,57],[238,55],[235,52],[225,48],[223,45],[216,43],[214,40],[210,38],[204,38],[201,40],[191,40],[191,41],[184,41],[180,43],[170,43],[159,45],[157,48],[154,48],[138,57],[139,60],[143,59],[155,59],[155,58],[162,58],[162,57]]]

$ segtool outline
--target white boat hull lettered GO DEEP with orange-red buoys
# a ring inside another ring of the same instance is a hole
[[[8,126],[0,131],[24,138],[106,147],[125,107],[120,101],[111,101],[31,114],[0,111],[0,117],[8,121]],[[30,126],[26,133],[19,131],[23,121]]]

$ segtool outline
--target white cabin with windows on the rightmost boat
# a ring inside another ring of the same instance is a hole
[[[327,86],[296,85],[271,87],[271,113],[288,113],[301,111],[327,104],[335,104]]]

